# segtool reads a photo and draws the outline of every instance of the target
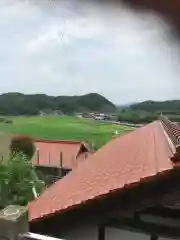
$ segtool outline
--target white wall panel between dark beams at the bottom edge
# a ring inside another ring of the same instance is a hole
[[[106,228],[105,240],[150,240],[150,236],[116,228]]]

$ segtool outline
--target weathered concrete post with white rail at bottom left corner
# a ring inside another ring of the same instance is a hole
[[[0,211],[0,240],[64,240],[29,232],[26,207],[10,205]]]

